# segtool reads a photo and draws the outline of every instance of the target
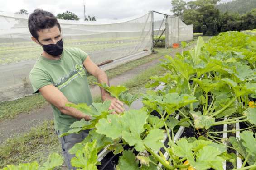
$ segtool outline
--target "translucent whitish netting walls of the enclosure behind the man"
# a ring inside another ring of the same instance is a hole
[[[0,102],[29,94],[32,89],[29,72],[42,53],[42,47],[31,40],[28,15],[0,12]],[[108,60],[123,60],[130,56],[148,55],[152,50],[152,12],[114,23],[61,20],[64,47],[77,47],[100,64]],[[160,24],[158,21],[155,25]],[[179,18],[168,17],[168,39],[174,42],[193,39],[193,26]],[[166,23],[160,30],[164,29]],[[192,29],[192,32],[191,32]],[[157,32],[155,28],[154,32]]]

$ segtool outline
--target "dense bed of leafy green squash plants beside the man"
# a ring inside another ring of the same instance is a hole
[[[182,47],[185,46],[183,42]],[[256,37],[226,32],[208,43],[198,37],[193,49],[183,50],[174,58],[166,56],[162,66],[168,72],[151,77],[151,83],[146,85],[164,84],[161,91],[132,95],[123,86],[98,84],[129,107],[141,97],[144,107],[114,115],[113,110],[108,110],[110,101],[91,106],[69,104],[92,118],[88,122],[74,122],[71,130],[62,135],[92,129],[87,138],[70,150],[76,154],[72,165],[80,170],[97,170],[97,153],[107,147],[114,154],[121,153],[117,170],[223,170],[225,161],[234,162],[228,147],[244,159],[240,170],[256,169],[256,108],[252,104],[256,99],[255,62]],[[151,115],[152,111],[158,116]],[[181,119],[175,119],[176,115]],[[232,146],[222,144],[216,135],[223,131],[214,131],[213,127],[237,122],[247,125],[240,129],[241,138],[230,137]],[[198,138],[174,141],[177,126],[194,128]],[[164,134],[168,136],[167,146],[161,142]],[[124,148],[127,145],[128,150]]]

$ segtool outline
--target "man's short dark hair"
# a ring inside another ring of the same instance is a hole
[[[35,9],[34,12],[29,15],[29,32],[37,40],[37,31],[53,28],[56,25],[58,26],[59,31],[61,32],[60,24],[58,23],[57,18],[52,13],[44,11],[43,9]]]

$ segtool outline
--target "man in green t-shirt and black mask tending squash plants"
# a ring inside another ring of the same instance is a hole
[[[92,104],[86,71],[95,76],[98,83],[109,84],[108,78],[106,73],[92,62],[87,53],[78,48],[63,48],[60,24],[50,12],[34,10],[29,16],[28,26],[32,40],[43,48],[43,53],[29,73],[29,79],[34,93],[40,92],[51,103],[55,130],[59,135],[67,132],[69,126],[75,121],[90,120],[88,115],[65,106],[67,103]],[[103,101],[111,101],[109,109],[114,109],[114,113],[124,111],[123,103],[111,97],[102,88],[101,98]],[[59,138],[68,169],[72,169],[70,160],[74,157],[68,153],[68,150],[87,135],[88,131],[83,131]]]

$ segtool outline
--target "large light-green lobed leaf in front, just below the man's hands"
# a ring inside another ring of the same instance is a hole
[[[144,132],[144,125],[148,115],[144,110],[128,110],[123,115],[108,115],[106,119],[101,119],[97,124],[97,133],[116,139],[122,137],[130,146],[135,146],[137,151],[143,151],[144,144],[157,150],[159,140],[164,138],[163,131],[159,129],[150,130],[148,137],[142,140],[140,135]],[[149,140],[150,138],[154,138]]]

